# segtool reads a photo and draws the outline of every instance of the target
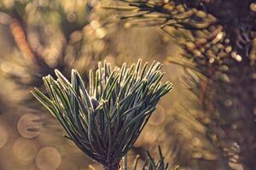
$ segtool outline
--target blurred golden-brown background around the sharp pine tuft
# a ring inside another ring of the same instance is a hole
[[[137,59],[163,63],[164,79],[174,89],[160,101],[129,162],[136,155],[145,159],[144,150],[157,156],[160,145],[166,161],[180,169],[226,169],[205,127],[211,118],[183,77],[201,79],[170,62],[183,60],[182,49],[158,27],[130,27],[115,17],[119,11],[102,8],[109,4],[119,5],[110,0],[0,0],[0,169],[102,169],[63,137],[60,124],[30,90],[40,88],[42,77],[55,68],[67,77],[75,68],[86,82],[98,61],[129,65]],[[239,150],[236,144],[230,147]],[[233,156],[232,167],[242,169]]]

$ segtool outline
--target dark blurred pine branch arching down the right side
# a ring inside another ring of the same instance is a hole
[[[203,123],[226,168],[242,168],[240,161],[255,169],[255,2],[123,2],[130,7],[108,8],[136,11],[120,16],[126,26],[160,26],[183,48],[186,59],[168,59],[187,68],[186,83],[211,120]]]

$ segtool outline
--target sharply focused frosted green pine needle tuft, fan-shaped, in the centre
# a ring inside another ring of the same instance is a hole
[[[164,74],[160,63],[154,62],[148,69],[148,63],[143,67],[141,63],[113,70],[106,62],[99,63],[97,71],[90,71],[89,91],[78,71],[72,71],[68,82],[55,70],[56,80],[43,78],[48,95],[38,88],[32,94],[87,156],[104,167],[118,169],[160,98],[172,89],[171,82],[160,82]]]

